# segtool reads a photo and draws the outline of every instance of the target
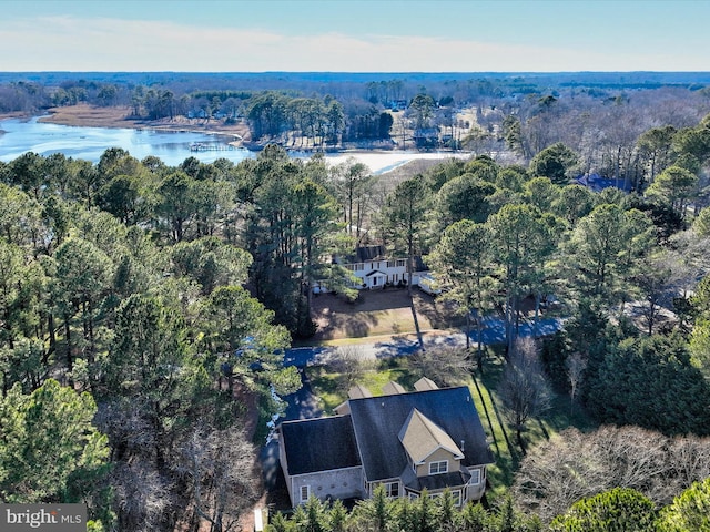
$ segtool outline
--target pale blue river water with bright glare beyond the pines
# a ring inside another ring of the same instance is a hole
[[[68,157],[97,163],[103,152],[110,147],[121,147],[138,160],[154,155],[169,166],[178,166],[191,156],[204,163],[222,157],[239,163],[244,158],[256,156],[254,152],[230,146],[227,143],[232,140],[233,137],[229,135],[207,135],[186,131],[84,127],[38,122],[37,117],[10,119],[0,121],[0,161],[9,162],[23,153],[34,152],[42,156],[63,153]],[[307,157],[306,154],[298,152],[292,152],[291,155],[300,158]],[[349,156],[366,164],[373,173],[382,174],[413,160],[443,160],[454,155],[444,152],[362,151],[327,154],[326,158],[331,164],[337,164]],[[455,156],[467,157],[468,154]]]

